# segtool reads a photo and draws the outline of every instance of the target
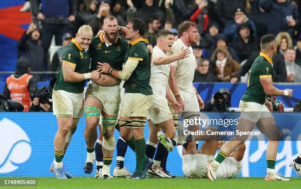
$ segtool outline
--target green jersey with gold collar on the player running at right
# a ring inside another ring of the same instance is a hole
[[[272,60],[264,53],[260,53],[254,60],[248,79],[247,91],[242,96],[244,102],[265,104],[267,95],[261,85],[260,78],[273,78],[274,70]]]

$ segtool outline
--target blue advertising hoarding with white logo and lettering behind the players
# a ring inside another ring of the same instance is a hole
[[[214,116],[214,114],[210,114],[211,117]],[[290,114],[292,115],[275,113],[274,117],[278,126],[285,125],[285,120],[290,121],[287,117],[293,116],[298,120],[301,118],[299,113]],[[296,124],[300,126],[299,122]],[[93,176],[93,174],[85,174],[83,170],[86,161],[85,125],[85,119],[82,118],[63,159],[64,165],[73,176]],[[0,112],[0,176],[53,176],[49,172],[49,166],[54,159],[53,138],[57,127],[56,117],[52,113]],[[297,128],[298,131],[295,130],[294,132],[301,133],[301,128],[299,128]],[[146,138],[148,138],[148,133],[146,126]],[[116,140],[118,137],[119,132],[116,130]],[[287,139],[280,142],[275,169],[285,177],[297,176],[289,167],[289,163],[301,153],[301,137],[299,141]],[[266,147],[267,141],[246,141],[244,164],[239,176],[265,176]],[[111,173],[113,173],[115,161],[116,150],[111,165]],[[174,175],[182,176],[181,162],[181,146],[178,146],[169,153],[167,169]],[[134,171],[135,154],[130,148],[127,149],[124,164],[130,172]]]

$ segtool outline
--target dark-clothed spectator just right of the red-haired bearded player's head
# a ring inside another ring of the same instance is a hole
[[[202,48],[208,48],[211,49],[212,46],[214,45],[214,42],[218,38],[218,33],[219,33],[219,26],[217,23],[212,22],[211,25],[209,26],[208,32],[206,33],[205,37],[203,37],[200,41],[200,46]]]

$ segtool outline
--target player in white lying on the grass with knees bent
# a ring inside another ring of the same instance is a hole
[[[214,160],[217,148],[220,149],[224,141],[204,141],[200,150],[196,150],[195,142],[183,145],[182,169],[187,178],[208,178],[207,165]],[[231,179],[236,177],[242,167],[245,144],[242,143],[221,163],[217,169],[217,178]]]

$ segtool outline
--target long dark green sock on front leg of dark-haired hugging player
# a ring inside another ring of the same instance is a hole
[[[136,173],[142,173],[143,162],[145,158],[146,143],[144,137],[136,140]]]

